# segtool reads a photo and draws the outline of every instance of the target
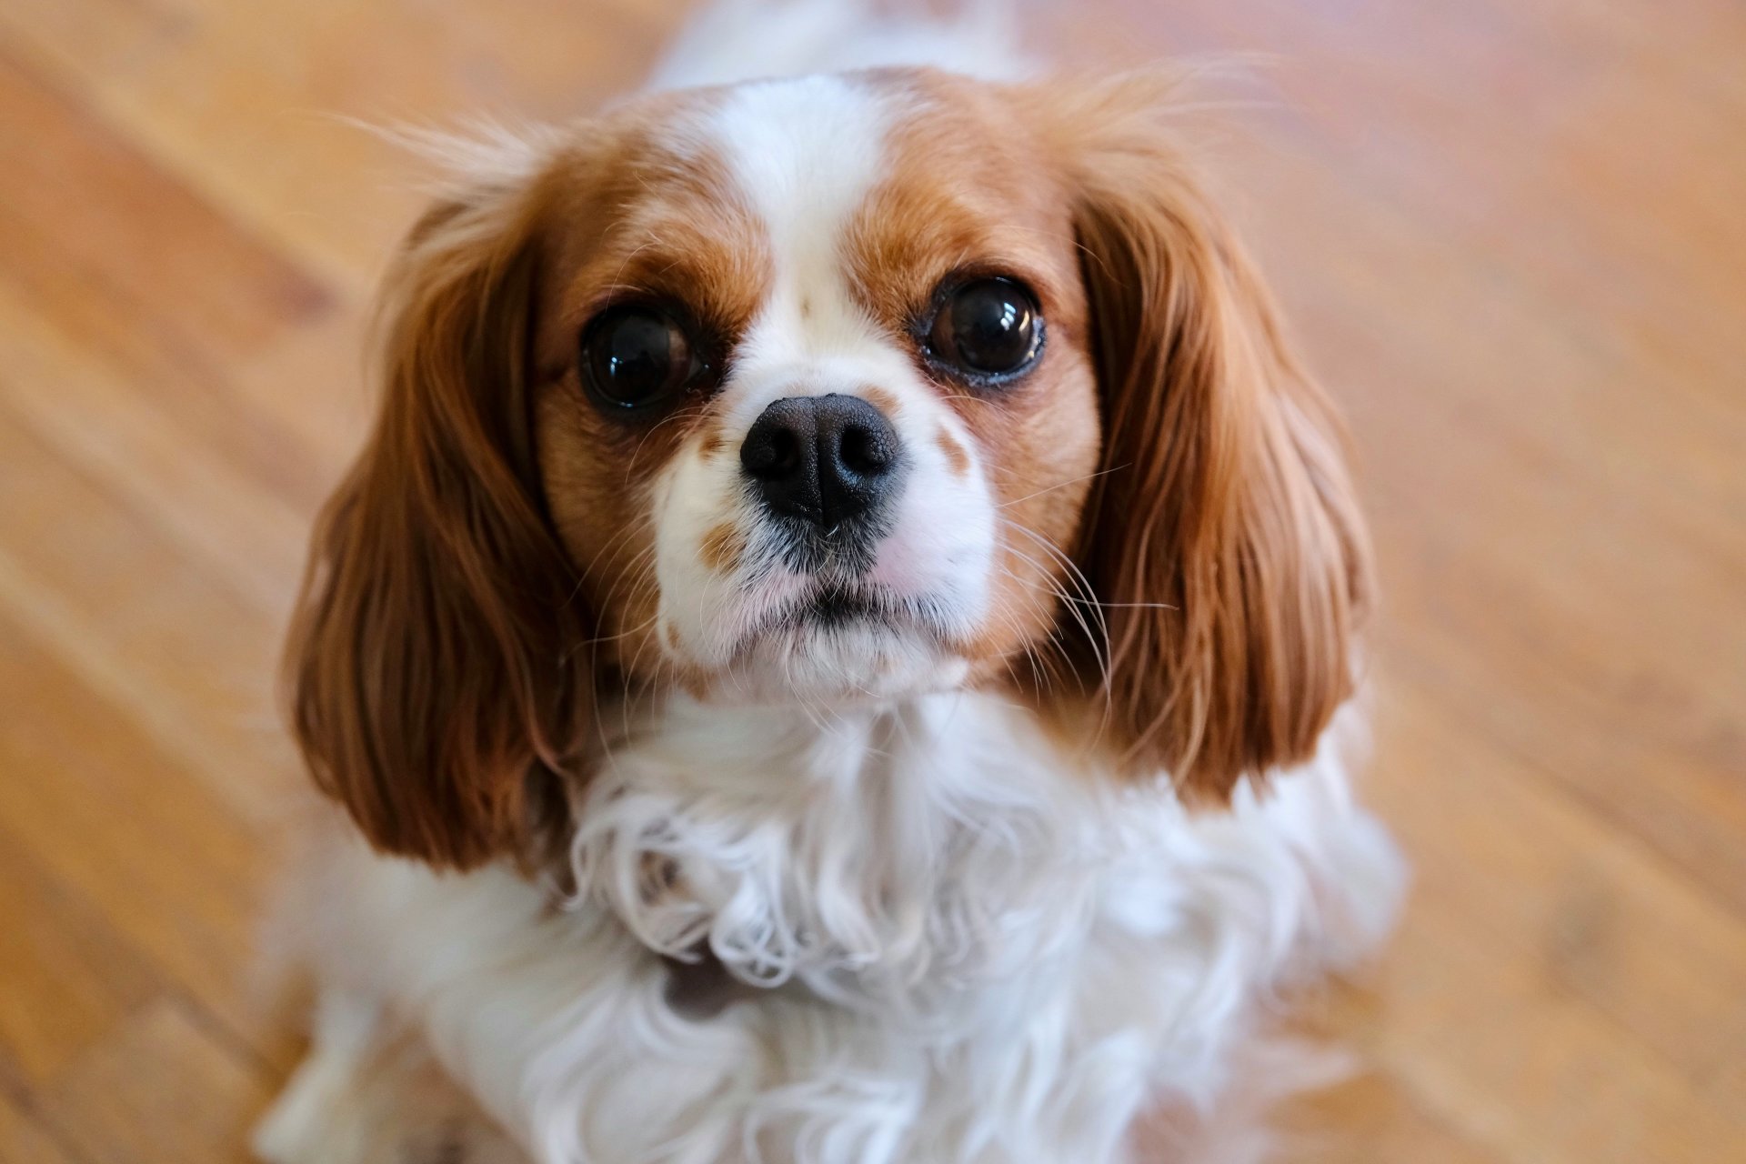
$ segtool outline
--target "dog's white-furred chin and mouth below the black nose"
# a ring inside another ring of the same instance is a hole
[[[925,618],[878,595],[821,588],[756,627],[716,689],[760,703],[857,703],[950,691],[967,674]]]

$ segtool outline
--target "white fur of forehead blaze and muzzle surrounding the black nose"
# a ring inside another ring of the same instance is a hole
[[[737,663],[740,691],[761,689],[761,674],[814,693],[950,686],[962,660],[936,635],[969,639],[988,609],[993,496],[983,473],[948,462],[939,433],[966,450],[974,440],[917,370],[911,339],[873,319],[852,286],[850,232],[887,176],[887,127],[910,112],[908,98],[856,79],[754,82],[688,122],[679,140],[681,150],[725,168],[770,258],[716,398],[726,440],[676,457],[655,497],[663,646],[686,661],[725,667],[751,642],[753,653]],[[763,628],[803,602],[815,579],[782,560],[733,450],[773,400],[870,389],[878,389],[876,407],[904,452],[890,531],[866,579],[927,609],[931,623],[915,633],[850,627],[810,640],[794,632],[789,640]],[[723,527],[739,531],[746,546],[730,565],[700,551]]]

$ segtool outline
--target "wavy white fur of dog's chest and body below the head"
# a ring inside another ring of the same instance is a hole
[[[630,724],[567,909],[356,843],[311,887],[325,989],[381,1000],[548,1164],[1124,1161],[1135,1115],[1210,1105],[1269,991],[1367,949],[1400,885],[1337,733],[1191,817],[988,696],[821,722],[676,696]],[[691,1019],[658,953],[700,942],[756,988]]]

